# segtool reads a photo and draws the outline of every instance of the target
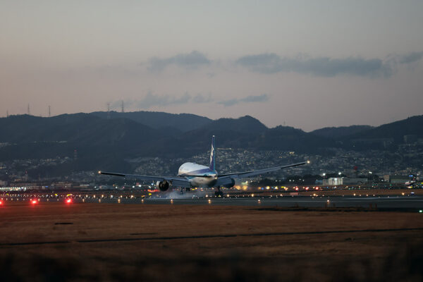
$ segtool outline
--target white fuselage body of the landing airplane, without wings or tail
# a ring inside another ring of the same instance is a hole
[[[179,167],[178,176],[186,176],[191,187],[210,188],[216,183],[217,172],[201,164],[185,163]],[[209,177],[195,177],[209,176]]]

